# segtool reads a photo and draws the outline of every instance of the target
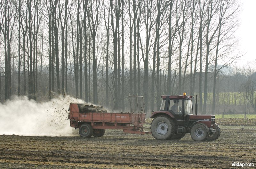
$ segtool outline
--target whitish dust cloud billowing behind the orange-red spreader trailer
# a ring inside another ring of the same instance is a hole
[[[0,103],[0,135],[71,136],[68,108],[70,103],[84,103],[70,96],[36,102],[14,96]]]

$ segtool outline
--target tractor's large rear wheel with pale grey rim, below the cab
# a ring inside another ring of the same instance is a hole
[[[156,139],[167,140],[174,132],[174,122],[170,117],[157,116],[152,121],[150,130]]]

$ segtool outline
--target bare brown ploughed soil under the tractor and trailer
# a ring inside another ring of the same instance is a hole
[[[103,137],[0,135],[0,168],[231,168],[256,165],[256,130],[221,127],[216,141],[156,140],[106,130]]]

